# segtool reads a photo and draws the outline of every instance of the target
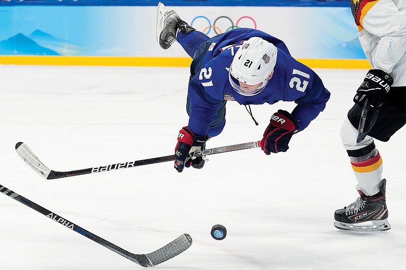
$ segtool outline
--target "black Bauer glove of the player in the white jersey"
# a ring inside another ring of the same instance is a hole
[[[363,106],[368,99],[371,108],[382,105],[386,94],[389,92],[393,79],[385,71],[380,69],[370,69],[365,76],[364,82],[357,90],[354,102]]]

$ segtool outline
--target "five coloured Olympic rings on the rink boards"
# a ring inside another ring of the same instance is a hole
[[[241,25],[241,23],[242,23],[243,21],[245,21],[245,22],[248,21],[248,22],[249,22],[249,24],[250,24],[250,27],[249,27],[249,28],[257,29],[257,23],[256,23],[256,21],[255,21],[252,17],[250,17],[250,16],[243,16],[243,17],[241,17],[240,19],[238,19],[238,20],[236,21],[235,24],[234,24],[234,22],[231,20],[231,18],[230,18],[230,17],[227,17],[227,16],[220,16],[220,17],[217,17],[217,19],[214,20],[213,24],[211,23],[211,21],[209,20],[209,18],[207,18],[206,16],[196,16],[196,17],[192,20],[192,22],[190,23],[190,26],[193,27],[193,24],[197,24],[198,21],[200,21],[199,25],[201,25],[201,20],[207,21],[207,24],[205,23],[205,25],[207,25],[207,26],[201,31],[201,32],[203,32],[203,33],[205,33],[205,34],[209,34],[212,29],[214,30],[214,32],[215,32],[216,34],[221,34],[221,33],[225,33],[225,32],[227,32],[227,31],[229,31],[229,30],[231,30],[231,29],[234,29],[234,28],[243,27],[243,26],[239,26],[239,25]],[[253,24],[253,27],[252,27],[252,24]],[[221,25],[221,26],[220,26],[220,25]],[[220,29],[220,27],[221,27],[221,29]],[[194,28],[196,28],[196,27],[194,27]],[[203,27],[202,27],[202,28],[203,28]],[[196,29],[197,29],[197,28],[196,28]],[[224,31],[222,31],[222,30],[224,30]]]

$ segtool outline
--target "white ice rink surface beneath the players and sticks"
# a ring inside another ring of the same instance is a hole
[[[336,229],[334,210],[358,196],[340,127],[366,70],[315,71],[330,101],[285,153],[220,153],[181,174],[165,162],[45,180],[17,142],[56,171],[173,155],[189,69],[0,65],[0,184],[132,253],[190,234],[193,245],[157,269],[405,269],[406,129],[375,142],[392,228]],[[226,127],[207,147],[260,140],[270,115],[294,105],[251,106],[255,126],[228,101]],[[0,269],[142,268],[7,196],[0,213]],[[210,236],[214,224],[227,228],[224,240]]]

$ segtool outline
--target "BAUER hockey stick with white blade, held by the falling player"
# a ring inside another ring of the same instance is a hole
[[[205,149],[205,150],[201,150],[201,151],[194,151],[191,153],[191,156],[192,157],[208,156],[208,155],[213,155],[216,153],[224,153],[224,152],[229,152],[229,151],[255,148],[255,147],[260,147],[260,146],[261,146],[261,141],[247,142],[247,143]],[[17,151],[18,155],[21,157],[21,159],[23,161],[25,161],[25,163],[28,164],[29,167],[31,167],[34,171],[36,171],[39,175],[41,175],[45,179],[57,179],[57,178],[70,177],[70,176],[76,176],[76,175],[82,175],[82,174],[113,171],[113,170],[118,170],[118,169],[125,169],[125,168],[131,168],[131,167],[136,167],[136,166],[166,162],[166,161],[175,161],[175,156],[171,155],[171,156],[152,158],[152,159],[146,159],[146,160],[115,163],[115,164],[110,164],[110,165],[106,165],[106,166],[99,166],[99,167],[80,169],[80,170],[74,170],[74,171],[58,172],[58,171],[48,169],[44,165],[44,163],[42,163],[37,158],[35,153],[25,143],[18,142],[16,144],[16,151]]]

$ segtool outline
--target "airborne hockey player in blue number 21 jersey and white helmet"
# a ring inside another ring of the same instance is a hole
[[[193,61],[186,110],[189,123],[178,135],[175,169],[202,168],[204,159],[189,153],[205,148],[208,138],[225,125],[225,104],[294,101],[292,113],[278,110],[270,117],[261,141],[266,155],[288,150],[293,134],[304,130],[325,108],[330,93],[319,76],[296,61],[276,37],[238,28],[209,38],[158,4],[156,37],[163,49],[178,43]],[[252,114],[251,114],[252,116]]]

